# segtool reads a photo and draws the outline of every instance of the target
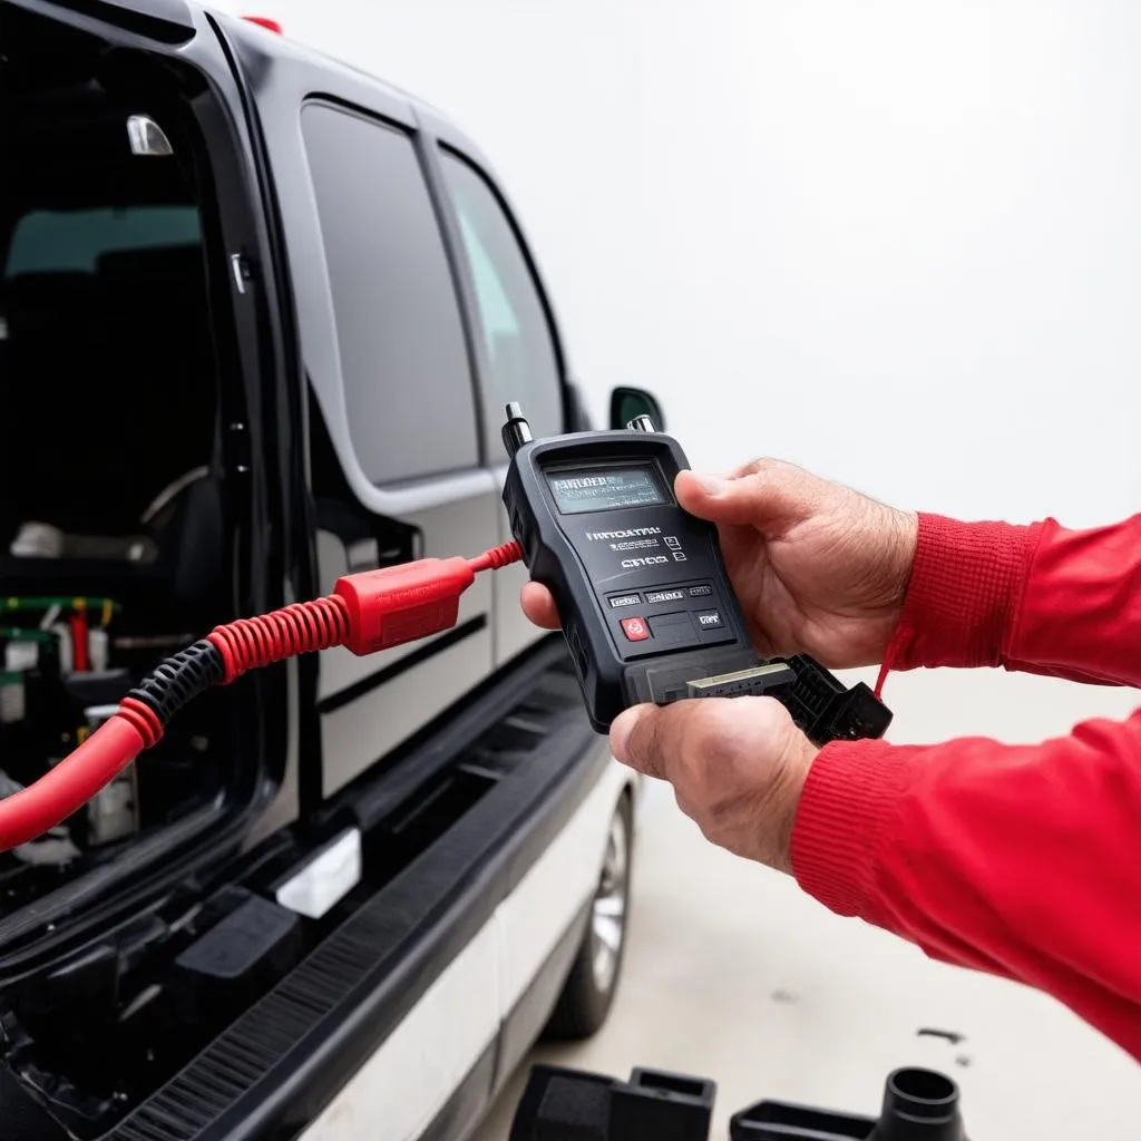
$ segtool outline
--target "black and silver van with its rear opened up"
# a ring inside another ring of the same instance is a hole
[[[589,424],[488,164],[407,95],[184,0],[6,0],[0,80],[5,795],[217,623],[507,541],[507,400]],[[3,1141],[462,1138],[602,1022],[636,788],[524,574],[211,690],[0,855]]]

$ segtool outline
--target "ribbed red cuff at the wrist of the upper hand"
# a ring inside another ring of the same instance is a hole
[[[912,577],[888,647],[889,667],[998,665],[1041,526],[920,515]]]

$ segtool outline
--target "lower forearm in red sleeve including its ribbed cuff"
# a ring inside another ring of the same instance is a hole
[[[1141,1058],[1141,711],[1042,745],[826,746],[801,885],[929,955],[1054,995]]]

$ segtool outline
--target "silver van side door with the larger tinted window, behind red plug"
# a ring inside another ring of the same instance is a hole
[[[438,201],[411,106],[288,40],[227,22],[281,211],[310,397],[317,589],[348,572],[497,541],[470,354]],[[267,50],[272,48],[272,50]],[[454,630],[369,658],[321,655],[327,798],[493,670],[492,585]],[[302,762],[302,790],[306,787]],[[304,793],[302,793],[304,795]]]

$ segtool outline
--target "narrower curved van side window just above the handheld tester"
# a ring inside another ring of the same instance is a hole
[[[558,358],[547,311],[510,219],[484,177],[444,152],[500,410],[518,400],[536,436],[563,431]],[[499,431],[499,421],[495,421]]]

